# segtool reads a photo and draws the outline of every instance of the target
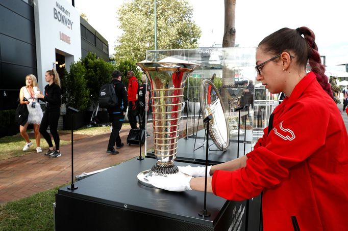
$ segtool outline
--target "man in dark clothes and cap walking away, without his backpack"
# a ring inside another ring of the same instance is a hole
[[[122,128],[123,118],[127,111],[128,98],[126,86],[121,82],[121,72],[114,70],[112,72],[111,83],[114,84],[115,93],[118,99],[118,103],[115,107],[107,108],[109,113],[109,118],[112,123],[112,131],[109,138],[107,153],[118,154],[119,152],[115,150],[114,146],[116,144],[116,149],[122,148],[124,145],[119,136],[119,131]]]

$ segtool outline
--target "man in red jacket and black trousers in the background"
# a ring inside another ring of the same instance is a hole
[[[138,100],[138,79],[134,76],[133,71],[127,72],[128,78],[128,120],[132,129],[137,129],[137,100]]]

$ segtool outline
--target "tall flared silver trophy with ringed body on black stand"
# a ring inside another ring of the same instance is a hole
[[[198,66],[187,63],[137,63],[151,84],[156,164],[138,174],[141,184],[154,187],[152,177],[180,175],[174,164],[179,140],[185,81]]]

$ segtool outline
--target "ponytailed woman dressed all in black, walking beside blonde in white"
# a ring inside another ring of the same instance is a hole
[[[62,103],[62,92],[60,86],[60,78],[57,71],[55,69],[46,71],[45,81],[48,82],[48,84],[45,86],[45,95],[37,95],[37,98],[44,101],[46,106],[40,124],[40,133],[48,143],[48,151],[45,153],[45,156],[49,156],[49,158],[57,158],[62,155],[62,153],[59,150],[60,138],[57,130],[58,120],[60,116],[60,105]],[[48,126],[49,131],[51,132],[55,141],[55,149],[53,148],[51,136],[47,132]]]

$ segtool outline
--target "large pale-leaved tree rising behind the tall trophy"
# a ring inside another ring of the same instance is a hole
[[[192,20],[192,7],[185,0],[157,0],[157,49],[198,47],[201,29]],[[155,49],[154,0],[124,3],[117,12],[123,34],[115,47],[116,59],[139,62],[146,50]]]

